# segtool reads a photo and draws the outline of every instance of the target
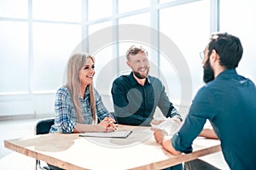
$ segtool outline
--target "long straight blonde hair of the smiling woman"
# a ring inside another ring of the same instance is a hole
[[[76,111],[77,122],[84,123],[83,109],[79,102],[81,80],[79,78],[79,71],[84,67],[87,59],[91,59],[95,63],[94,57],[89,54],[73,54],[68,60],[67,64],[67,88],[73,98],[73,105]],[[85,90],[85,89],[84,89]],[[96,116],[96,99],[93,90],[93,83],[89,85],[90,94],[90,111],[94,122],[97,122]],[[82,96],[84,97],[84,96]]]

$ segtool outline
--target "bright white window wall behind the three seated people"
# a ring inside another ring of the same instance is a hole
[[[240,37],[237,71],[256,82],[255,8],[253,0],[0,0],[0,124],[54,116],[76,51],[95,56],[94,85],[113,111],[111,83],[130,73],[132,44],[148,49],[150,73],[185,115],[204,85],[200,52],[212,32]]]

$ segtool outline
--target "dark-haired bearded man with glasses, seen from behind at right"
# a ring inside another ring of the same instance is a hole
[[[256,88],[241,77],[236,67],[243,48],[240,39],[230,34],[212,35],[203,55],[204,82],[195,95],[189,114],[179,132],[171,137],[160,129],[154,139],[173,155],[192,151],[192,142],[200,134],[207,119],[221,142],[224,159],[230,169],[255,169],[256,150]],[[207,129],[209,130],[209,129]],[[213,135],[214,136],[214,135]],[[205,161],[185,162],[184,169],[217,169]]]

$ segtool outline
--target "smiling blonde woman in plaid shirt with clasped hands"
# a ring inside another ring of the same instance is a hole
[[[95,59],[73,54],[67,64],[67,84],[55,95],[55,124],[50,133],[113,132],[117,124],[93,88]],[[99,123],[98,123],[99,120]]]

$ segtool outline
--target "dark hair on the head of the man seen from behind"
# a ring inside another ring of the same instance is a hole
[[[208,56],[212,54],[212,49],[219,55],[219,64],[226,69],[235,69],[243,53],[240,39],[228,33],[212,34],[208,44]]]

